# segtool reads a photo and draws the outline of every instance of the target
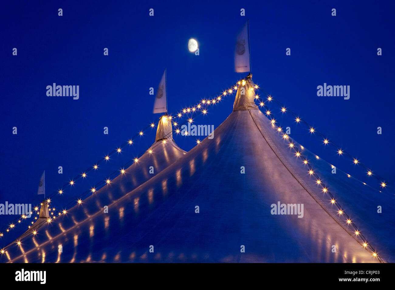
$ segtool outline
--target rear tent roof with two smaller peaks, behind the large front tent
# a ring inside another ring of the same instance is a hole
[[[121,173],[111,180],[109,185],[105,185],[102,189],[99,189],[93,195],[83,200],[81,205],[77,204],[70,210],[67,210],[66,216],[57,217],[55,220],[51,219],[50,225],[48,225],[48,207],[43,204],[40,209],[40,218],[29,230],[7,247],[7,253],[1,256],[0,261],[9,261],[8,256],[15,258],[15,255],[21,253],[21,249],[27,251],[29,248],[35,248],[49,239],[54,238],[55,240],[54,235],[66,232],[70,228],[79,230],[79,223],[83,224],[83,221],[95,213],[103,213],[104,206],[109,206],[120,197],[135,189],[138,185],[171,165],[171,163],[186,153],[175,144],[172,137],[171,122],[166,116],[163,116],[158,123],[154,144],[150,146],[147,152],[137,162],[126,168],[124,174]],[[37,232],[36,235],[33,234],[34,231]],[[27,245],[25,242],[28,240],[31,240],[30,245]],[[12,245],[17,241],[21,241],[19,249],[12,249]],[[40,247],[40,249],[43,248]],[[41,261],[41,258],[38,260]],[[30,262],[30,259],[25,260],[23,258],[21,260],[21,262],[27,261]],[[34,259],[32,262],[34,262]],[[50,260],[45,260],[45,262],[50,262]]]

